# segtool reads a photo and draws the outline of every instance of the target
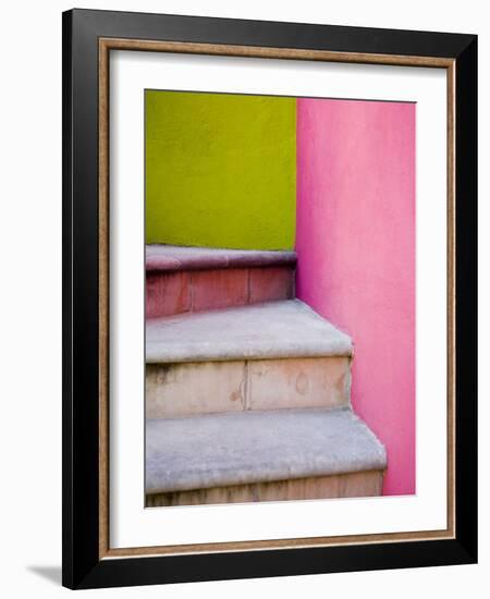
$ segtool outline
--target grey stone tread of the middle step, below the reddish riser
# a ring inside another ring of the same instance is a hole
[[[150,318],[146,362],[350,356],[352,341],[298,300]]]

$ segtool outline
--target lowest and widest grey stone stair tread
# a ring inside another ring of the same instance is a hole
[[[280,409],[148,420],[146,492],[380,470],[384,447],[351,409]]]

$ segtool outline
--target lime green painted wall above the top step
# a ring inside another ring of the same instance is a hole
[[[294,246],[296,100],[146,90],[146,241]]]

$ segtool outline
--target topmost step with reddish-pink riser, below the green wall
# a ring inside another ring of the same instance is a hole
[[[146,316],[294,297],[294,252],[148,245]]]

